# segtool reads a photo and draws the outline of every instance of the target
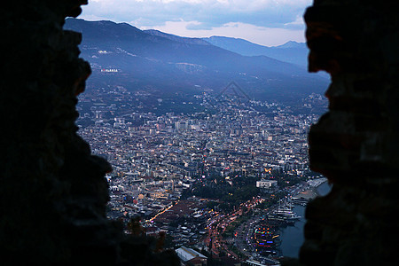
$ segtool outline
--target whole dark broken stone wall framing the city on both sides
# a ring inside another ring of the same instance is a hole
[[[90,66],[62,29],[82,0],[0,7],[2,265],[178,265],[106,220],[109,164],[76,134]],[[333,184],[307,208],[304,265],[398,265],[397,1],[319,0],[305,20],[309,70],[332,75],[309,133],[310,166]]]

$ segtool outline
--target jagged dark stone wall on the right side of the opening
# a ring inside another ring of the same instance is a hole
[[[333,184],[309,203],[304,265],[399,265],[397,1],[315,0],[309,71],[325,70],[329,112],[309,132],[310,167]]]

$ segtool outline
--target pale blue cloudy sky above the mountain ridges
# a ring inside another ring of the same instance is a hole
[[[89,0],[79,18],[127,22],[188,36],[223,35],[262,45],[304,42],[312,0]]]

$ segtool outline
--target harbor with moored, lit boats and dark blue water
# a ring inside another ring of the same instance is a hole
[[[273,262],[278,258],[298,258],[304,241],[306,204],[331,191],[332,186],[326,181],[326,178],[318,178],[295,188],[278,206],[250,224],[246,243],[250,246],[248,251],[252,251],[252,261],[259,265],[276,265]]]

